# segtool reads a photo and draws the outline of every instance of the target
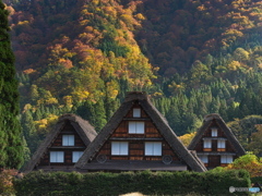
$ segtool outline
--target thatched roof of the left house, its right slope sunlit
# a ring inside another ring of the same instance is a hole
[[[44,156],[46,150],[51,146],[51,144],[53,143],[58,134],[63,128],[66,122],[68,121],[74,127],[74,130],[76,131],[76,133],[79,134],[79,136],[81,137],[81,139],[86,146],[88,146],[96,137],[97,135],[96,131],[87,121],[72,113],[63,114],[59,118],[52,131],[46,136],[44,142],[35,151],[32,159],[26,164],[24,172],[32,171],[34,167],[40,161],[40,158]]]

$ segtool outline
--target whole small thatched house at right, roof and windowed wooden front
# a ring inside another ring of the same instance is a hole
[[[203,125],[189,145],[206,168],[225,167],[245,150],[218,114],[206,115]]]

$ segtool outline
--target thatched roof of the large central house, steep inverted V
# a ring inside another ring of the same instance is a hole
[[[198,159],[196,156],[193,156],[180,142],[177,135],[168,125],[167,120],[159,113],[159,111],[152,105],[148,96],[145,93],[141,91],[132,91],[126,96],[124,101],[120,106],[120,108],[115,112],[109,122],[105,125],[105,127],[100,131],[97,137],[93,140],[93,143],[86,148],[83,156],[75,163],[76,168],[82,168],[85,164],[94,159],[96,154],[99,151],[100,147],[105,144],[105,142],[110,137],[114,131],[121,123],[122,119],[127,115],[129,110],[132,108],[133,103],[138,101],[142,109],[147,113],[147,115],[152,119],[156,128],[166,139],[166,142],[171,146],[172,150],[178,155],[178,157],[186,162],[186,164],[194,171],[203,172],[206,171],[205,167]]]

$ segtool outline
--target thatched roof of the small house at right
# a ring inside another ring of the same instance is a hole
[[[194,136],[194,138],[192,139],[192,142],[190,143],[188,149],[189,150],[193,150],[195,148],[195,146],[198,145],[198,143],[200,142],[200,139],[202,138],[202,135],[207,131],[207,128],[210,127],[210,125],[213,122],[216,122],[216,124],[219,126],[219,128],[225,133],[227,139],[229,140],[229,143],[233,145],[233,147],[236,150],[236,155],[237,156],[242,156],[246,154],[243,147],[240,145],[240,143],[238,142],[238,139],[235,137],[235,135],[233,134],[231,130],[226,125],[226,123],[224,122],[224,120],[221,118],[219,114],[217,113],[212,113],[209,114],[204,118],[203,124],[202,126],[198,130],[196,135]]]

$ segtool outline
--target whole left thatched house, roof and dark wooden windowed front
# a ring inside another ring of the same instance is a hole
[[[73,166],[96,135],[94,127],[82,118],[72,113],[59,117],[52,131],[25,166],[24,172],[38,169],[73,171]]]

